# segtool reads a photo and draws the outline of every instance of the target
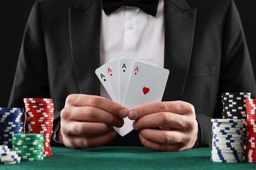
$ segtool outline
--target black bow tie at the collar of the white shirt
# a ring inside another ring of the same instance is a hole
[[[121,6],[138,7],[147,14],[156,16],[158,0],[102,0],[102,9],[108,15]]]

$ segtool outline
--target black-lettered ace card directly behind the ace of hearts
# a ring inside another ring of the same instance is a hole
[[[123,104],[123,99],[129,83],[131,71],[133,70],[133,64],[135,61],[156,65],[155,58],[121,58],[119,60],[119,82],[120,82],[120,103]]]

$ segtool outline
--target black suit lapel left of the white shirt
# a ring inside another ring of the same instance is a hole
[[[100,14],[97,0],[82,0],[69,10],[70,44],[80,93],[100,94],[95,75],[100,65]]]

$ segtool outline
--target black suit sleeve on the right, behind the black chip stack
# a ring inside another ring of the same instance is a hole
[[[198,114],[199,124],[197,146],[211,146],[211,118],[222,118],[221,93],[223,92],[251,92],[251,97],[256,97],[255,76],[240,16],[234,1],[230,1],[224,26],[223,50],[221,56],[221,71],[219,91],[215,114]]]

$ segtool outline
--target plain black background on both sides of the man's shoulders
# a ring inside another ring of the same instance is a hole
[[[256,75],[256,0],[234,1],[244,25]],[[8,105],[24,28],[34,2],[35,0],[7,0],[0,5],[0,107]]]

